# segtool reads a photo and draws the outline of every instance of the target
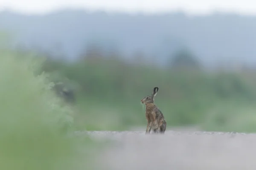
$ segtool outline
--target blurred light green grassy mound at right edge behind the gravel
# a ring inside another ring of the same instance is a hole
[[[210,131],[255,133],[255,113],[255,102],[221,102],[207,112],[201,128]]]

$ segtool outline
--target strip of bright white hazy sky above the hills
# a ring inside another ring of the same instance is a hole
[[[208,14],[214,11],[256,15],[256,0],[0,0],[0,10],[46,13],[58,8],[146,13],[183,10],[188,14]]]

